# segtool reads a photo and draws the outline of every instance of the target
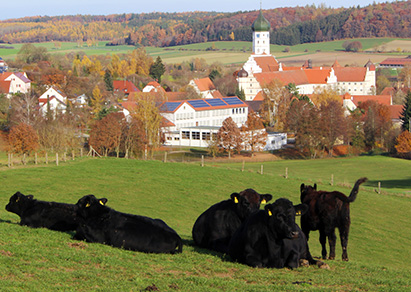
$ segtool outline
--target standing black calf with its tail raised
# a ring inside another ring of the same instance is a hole
[[[350,203],[357,198],[359,187],[365,181],[367,178],[357,180],[349,197],[337,191],[317,191],[317,184],[314,184],[314,187],[301,184],[301,203],[309,206],[309,211],[301,216],[301,229],[307,240],[310,230],[319,230],[323,259],[327,258],[327,237],[330,245],[329,259],[335,258],[335,228],[338,228],[342,246],[342,260],[348,261],[347,245],[351,224]]]

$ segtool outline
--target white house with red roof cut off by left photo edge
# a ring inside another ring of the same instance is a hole
[[[25,72],[3,72],[0,73],[1,93],[11,94],[30,92],[31,80]]]

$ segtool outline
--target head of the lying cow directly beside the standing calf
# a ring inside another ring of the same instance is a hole
[[[295,216],[303,215],[308,211],[305,204],[293,205],[285,198],[280,198],[272,204],[265,206],[268,215],[270,229],[277,235],[277,238],[297,238],[298,229],[295,224]]]

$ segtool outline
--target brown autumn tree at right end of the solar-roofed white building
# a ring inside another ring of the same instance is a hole
[[[254,155],[255,151],[264,149],[267,142],[267,132],[262,119],[256,113],[248,114],[245,125],[241,127],[241,132],[245,149],[249,149],[251,155]]]

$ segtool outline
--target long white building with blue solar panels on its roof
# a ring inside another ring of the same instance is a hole
[[[164,102],[160,113],[166,121],[166,145],[207,147],[226,118],[244,125],[248,106],[236,96],[194,99]]]

